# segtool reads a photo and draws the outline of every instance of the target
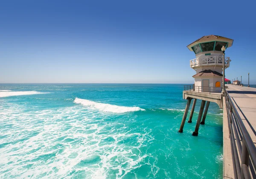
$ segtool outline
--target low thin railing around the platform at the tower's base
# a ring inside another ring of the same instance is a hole
[[[184,85],[184,91],[190,91],[190,92],[207,92],[209,94],[213,92],[220,93],[222,90],[222,87],[202,87],[202,86],[195,86],[195,85]]]

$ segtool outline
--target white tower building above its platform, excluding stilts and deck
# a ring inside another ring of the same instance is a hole
[[[220,92],[222,87],[222,46],[233,45],[230,38],[207,35],[187,47],[195,52],[195,59],[190,60],[190,67],[196,71],[195,91]],[[225,56],[225,69],[230,65],[230,58]]]

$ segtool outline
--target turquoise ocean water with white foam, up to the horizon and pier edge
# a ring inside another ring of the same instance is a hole
[[[222,110],[183,84],[0,84],[0,178],[222,178]],[[191,108],[191,107],[190,107]]]

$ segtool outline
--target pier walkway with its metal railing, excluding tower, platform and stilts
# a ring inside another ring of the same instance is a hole
[[[223,178],[256,178],[256,88],[227,86],[223,110]]]

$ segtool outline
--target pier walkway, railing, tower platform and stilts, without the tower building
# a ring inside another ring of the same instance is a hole
[[[210,101],[215,102],[223,108],[223,178],[256,178],[256,88],[226,86],[222,94],[211,92],[210,87],[209,92],[203,92],[200,90],[203,87],[186,85],[183,98],[187,104],[179,132],[183,132],[192,100],[189,123],[192,122],[197,99],[202,100],[193,136],[198,136],[200,124],[205,124]]]

